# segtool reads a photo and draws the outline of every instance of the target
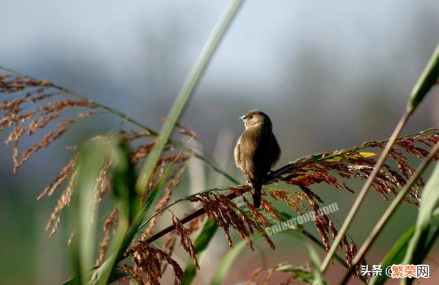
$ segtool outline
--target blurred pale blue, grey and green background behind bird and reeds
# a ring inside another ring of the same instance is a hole
[[[226,4],[3,0],[0,65],[56,82],[159,130]],[[272,118],[283,150],[278,166],[314,152],[385,139],[438,41],[435,0],[247,1],[213,56],[181,124],[200,135],[200,148],[207,156],[243,182],[232,150],[244,129],[237,118],[250,109]],[[404,133],[439,125],[438,93],[436,87]],[[40,150],[16,175],[12,175],[12,148],[1,144],[2,284],[60,284],[69,277],[70,229],[62,227],[53,238],[44,229],[60,192],[38,203],[36,196],[71,157],[66,146],[106,133],[119,122],[105,115],[78,124],[56,144]],[[0,133],[0,139],[7,135]],[[23,147],[43,135],[27,139]],[[218,185],[228,183],[194,162],[178,195]],[[357,191],[361,186],[350,185]],[[339,203],[335,217],[344,220],[355,195],[326,186],[315,190],[326,203]],[[378,194],[368,195],[350,230],[357,244],[386,205]],[[379,264],[415,220],[416,209],[403,205],[370,251],[370,264]],[[257,266],[307,263],[306,249],[298,240],[283,235],[273,239],[276,251],[263,242],[258,243],[263,255],[245,249],[227,282],[244,282]],[[224,233],[219,232],[213,242],[198,284],[209,280],[227,249]],[[177,256],[182,265],[186,258],[183,253]],[[437,244],[427,263],[438,276]],[[335,267],[327,275],[331,283],[344,273]]]

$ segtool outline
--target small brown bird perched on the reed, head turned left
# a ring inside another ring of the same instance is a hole
[[[252,110],[240,117],[246,130],[235,146],[235,164],[241,169],[252,187],[253,205],[261,206],[263,178],[281,156],[276,137],[272,132],[272,121],[265,113]]]

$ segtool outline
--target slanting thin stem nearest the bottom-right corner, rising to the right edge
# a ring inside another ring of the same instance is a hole
[[[364,244],[361,245],[361,248],[359,249],[357,255],[355,255],[355,258],[353,259],[351,266],[352,270],[355,270],[355,266],[357,266],[358,262],[364,257],[364,255],[366,255],[372,243],[375,241],[379,233],[381,233],[381,230],[385,227],[385,225],[390,220],[390,216],[392,216],[392,214],[399,207],[399,205],[401,205],[403,198],[405,197],[407,192],[410,191],[413,183],[415,183],[416,180],[419,178],[419,176],[423,174],[425,168],[427,168],[429,162],[431,161],[431,159],[434,158],[438,150],[439,150],[439,143],[436,144],[436,146],[434,146],[434,148],[430,151],[429,155],[425,159],[423,159],[423,161],[420,163],[418,168],[416,168],[416,172],[414,172],[412,177],[410,177],[410,180],[407,181],[403,189],[401,189],[401,191],[398,193],[396,198],[394,198],[388,209],[385,210],[385,213],[383,214],[377,225],[375,225],[374,229],[372,229],[372,232],[370,233]],[[346,282],[348,281],[349,277],[352,274],[352,270],[348,271],[342,283],[340,284],[346,284]]]

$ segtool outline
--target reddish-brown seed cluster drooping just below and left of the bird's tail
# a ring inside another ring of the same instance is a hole
[[[222,227],[224,233],[226,233],[229,247],[233,247],[233,242],[230,238],[231,227],[239,233],[239,236],[241,236],[242,239],[248,239],[248,247],[254,250],[251,236],[254,233],[254,230],[258,232],[264,231],[263,227],[261,227],[261,222],[248,217],[235,203],[219,192],[202,193],[190,196],[187,200],[202,203],[207,216],[213,219],[219,227]],[[270,247],[274,249],[272,240],[270,240],[268,236],[264,236],[264,238]]]

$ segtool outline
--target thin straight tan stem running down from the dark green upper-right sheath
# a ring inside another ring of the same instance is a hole
[[[412,114],[411,111],[405,111],[405,113],[403,114],[403,116],[399,120],[399,123],[396,125],[396,128],[394,129],[392,136],[390,137],[388,143],[385,145],[385,148],[384,148],[383,152],[381,153],[377,163],[375,163],[375,166],[373,168],[372,173],[368,177],[368,180],[366,181],[366,183],[364,183],[363,187],[361,188],[361,191],[360,191],[357,199],[355,200],[355,202],[351,208],[351,211],[349,212],[348,216],[346,217],[346,220],[344,220],[342,228],[340,229],[340,231],[338,231],[337,238],[335,238],[333,244],[331,245],[331,249],[329,249],[327,256],[324,258],[324,260],[322,262],[322,266],[320,266],[320,271],[322,273],[324,273],[327,270],[329,262],[331,262],[331,258],[333,257],[335,251],[337,250],[337,247],[339,246],[340,242],[342,241],[342,238],[343,238],[344,234],[346,233],[348,227],[351,225],[355,214],[357,214],[359,206],[364,201],[364,198],[366,197],[366,194],[369,190],[369,187],[370,187],[370,185],[372,185],[373,179],[375,179],[375,176],[377,176],[377,174],[379,172],[379,168],[381,168],[381,166],[383,165],[385,159],[387,158],[387,156],[390,152],[390,149],[392,148],[392,144],[394,144],[394,141],[401,133],[401,130],[403,129],[403,127],[407,123],[407,120],[410,118],[411,114]]]

